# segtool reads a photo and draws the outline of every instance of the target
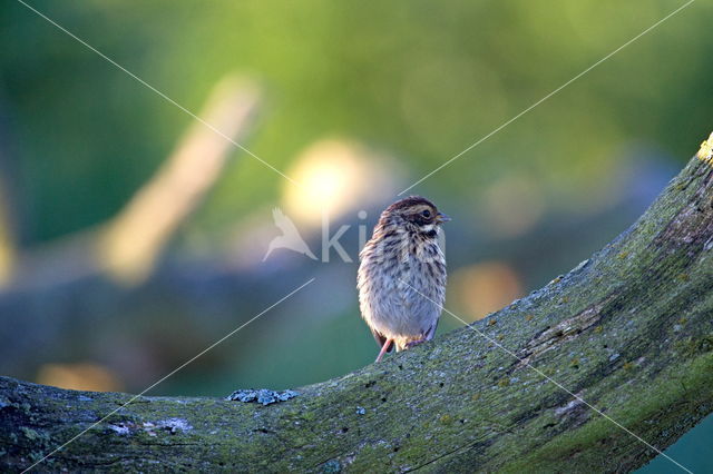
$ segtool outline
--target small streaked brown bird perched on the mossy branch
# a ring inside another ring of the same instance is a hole
[[[447,280],[438,235],[448,220],[423,197],[400,199],[381,214],[360,251],[359,306],[381,348],[375,362],[393,346],[400,352],[433,337]]]

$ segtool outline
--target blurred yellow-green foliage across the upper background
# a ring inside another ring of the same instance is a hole
[[[225,73],[252,72],[271,103],[246,145],[280,169],[345,134],[408,157],[416,179],[682,3],[32,4],[191,110]],[[625,142],[688,156],[710,127],[710,13],[704,2],[683,10],[416,190],[472,199],[498,176],[527,174],[551,204],[577,209],[606,195]],[[36,243],[114,214],[191,118],[21,4],[4,2],[0,19],[0,97],[25,241]],[[281,180],[236,160],[197,225],[219,235]]]

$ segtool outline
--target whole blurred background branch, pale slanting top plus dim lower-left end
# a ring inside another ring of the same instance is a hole
[[[214,88],[201,117],[224,135],[242,139],[256,110],[255,82],[229,76]],[[120,283],[138,284],[154,269],[175,230],[215,185],[233,145],[195,122],[155,176],[106,224],[48,243],[18,256],[19,287],[52,287],[106,274]],[[94,250],[92,250],[94,249]]]

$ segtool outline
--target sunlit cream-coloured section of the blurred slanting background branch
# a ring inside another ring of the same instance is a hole
[[[257,99],[254,82],[228,77],[215,87],[201,117],[240,141]],[[106,225],[97,257],[100,265],[123,282],[144,280],[176,228],[215,185],[232,147],[205,125],[193,124],[156,176]]]

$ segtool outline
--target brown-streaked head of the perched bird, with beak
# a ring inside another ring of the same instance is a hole
[[[436,237],[438,227],[450,220],[436,205],[420,196],[410,196],[389,206],[381,215],[384,225],[395,225],[409,231]]]

